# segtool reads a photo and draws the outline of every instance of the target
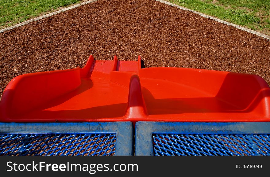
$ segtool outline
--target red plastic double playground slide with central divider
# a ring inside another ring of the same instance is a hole
[[[270,88],[260,76],[90,56],[84,68],[12,79],[0,121],[269,121],[269,109]]]

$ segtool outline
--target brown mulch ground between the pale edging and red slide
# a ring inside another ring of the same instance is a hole
[[[270,40],[154,0],[98,0],[0,33],[0,95],[18,75],[95,59],[252,73],[270,84]]]

